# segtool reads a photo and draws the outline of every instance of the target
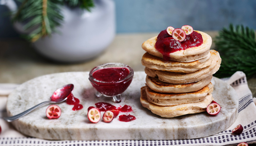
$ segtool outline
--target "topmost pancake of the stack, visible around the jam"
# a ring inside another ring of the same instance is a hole
[[[197,31],[203,37],[203,44],[198,47],[187,48],[186,50],[180,50],[170,53],[170,60],[179,62],[193,62],[204,57],[207,57],[210,47],[212,45],[212,38],[208,34]],[[163,58],[163,55],[156,50],[155,42],[157,41],[157,36],[150,38],[142,44],[142,48],[149,54]]]

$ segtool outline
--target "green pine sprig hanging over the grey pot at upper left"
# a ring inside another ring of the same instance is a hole
[[[19,0],[21,6],[16,11],[13,21],[25,24],[24,30],[30,33],[25,36],[29,41],[35,42],[39,38],[51,35],[55,28],[61,25],[63,16],[60,7],[64,4],[70,7],[80,7],[91,10],[93,0]]]

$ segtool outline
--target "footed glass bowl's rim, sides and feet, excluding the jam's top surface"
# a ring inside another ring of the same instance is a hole
[[[127,68],[129,70],[129,74],[123,79],[109,82],[100,81],[94,78],[93,73],[103,68]],[[128,88],[133,80],[133,69],[123,63],[106,63],[92,68],[89,73],[89,80],[92,86],[97,90],[97,97],[101,97],[101,95],[113,97],[114,102],[120,103],[122,101],[121,94]]]

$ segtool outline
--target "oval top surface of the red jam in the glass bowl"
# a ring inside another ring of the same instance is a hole
[[[116,82],[129,75],[127,68],[102,68],[92,73],[92,77],[103,82]]]

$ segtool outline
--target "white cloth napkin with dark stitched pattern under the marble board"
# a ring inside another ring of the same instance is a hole
[[[245,73],[236,72],[230,78],[223,78],[223,80],[229,83],[238,94],[239,113],[233,125],[213,136],[170,141],[48,141],[30,138],[23,136],[13,129],[10,123],[2,119],[2,117],[6,116],[7,96],[0,96],[0,126],[2,127],[0,146],[236,146],[240,142],[256,143],[256,104],[253,102],[255,98],[252,97],[248,88]],[[0,91],[3,90],[0,89]],[[8,92],[10,93],[10,90]],[[243,133],[240,135],[232,134],[231,130],[239,124],[244,127]]]

